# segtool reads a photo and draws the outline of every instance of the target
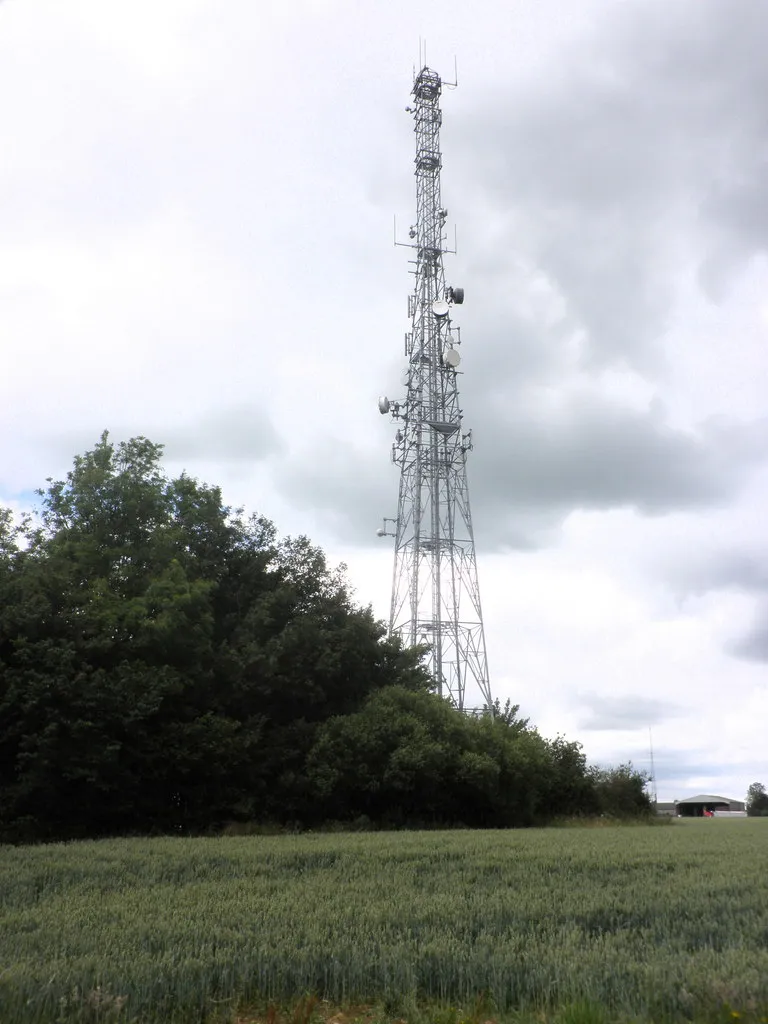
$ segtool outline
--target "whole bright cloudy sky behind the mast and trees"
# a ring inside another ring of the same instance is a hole
[[[768,783],[768,5],[0,0],[0,502],[109,429],[388,609],[419,40],[492,688]]]

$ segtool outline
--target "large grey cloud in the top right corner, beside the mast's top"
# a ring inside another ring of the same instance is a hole
[[[528,253],[587,332],[588,360],[657,365],[674,274],[698,264],[716,290],[768,245],[766,31],[755,4],[623,5],[549,83],[465,116],[470,233],[489,195],[509,222],[471,245],[501,265]]]

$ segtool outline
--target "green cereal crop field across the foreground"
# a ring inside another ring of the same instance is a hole
[[[768,819],[0,849],[3,1024],[233,1020],[305,993],[768,1020]]]

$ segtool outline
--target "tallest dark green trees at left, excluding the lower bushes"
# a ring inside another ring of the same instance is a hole
[[[304,538],[103,434],[0,515],[0,830],[53,838],[296,814],[318,723],[418,651]]]

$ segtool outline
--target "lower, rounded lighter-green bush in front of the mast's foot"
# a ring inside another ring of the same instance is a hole
[[[307,772],[321,818],[530,825],[552,816],[559,750],[511,706],[471,718],[435,694],[388,687],[323,725]]]

